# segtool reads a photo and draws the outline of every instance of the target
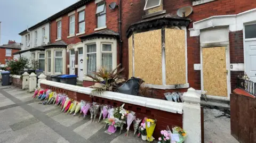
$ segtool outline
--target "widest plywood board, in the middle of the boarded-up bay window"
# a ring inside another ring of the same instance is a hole
[[[162,85],[161,30],[134,34],[135,77]]]

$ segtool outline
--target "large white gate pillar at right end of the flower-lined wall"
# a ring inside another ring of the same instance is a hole
[[[183,100],[183,129],[188,134],[185,143],[201,143],[200,95],[194,88],[189,88]]]

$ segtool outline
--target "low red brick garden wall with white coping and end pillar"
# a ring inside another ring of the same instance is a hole
[[[85,100],[87,102],[97,102],[116,107],[125,103],[124,108],[134,111],[140,119],[143,119],[143,117],[156,119],[156,128],[153,134],[156,139],[161,136],[160,131],[165,130],[167,125],[170,128],[174,125],[182,127],[187,131],[188,138],[186,143],[201,142],[200,98],[194,95],[194,89],[189,89],[191,91],[184,94],[184,103],[175,103],[167,100],[126,95],[110,91],[105,91],[101,95],[93,94],[93,96],[90,96],[93,90],[92,88],[67,85],[48,80],[40,81],[40,86],[58,93],[65,93],[69,98],[77,101]]]

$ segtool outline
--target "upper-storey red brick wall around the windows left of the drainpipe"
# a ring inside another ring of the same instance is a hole
[[[106,26],[107,29],[118,32],[118,9],[110,10],[108,5],[111,2],[118,3],[117,0],[106,0]],[[81,5],[82,7],[83,5]],[[97,28],[97,17],[95,16],[97,5],[94,1],[86,4],[85,8],[85,34],[89,35]],[[81,41],[78,36],[67,38],[69,36],[69,16],[68,14],[62,15],[62,27],[61,27],[61,39],[69,44],[76,44]],[[78,13],[75,11],[75,34],[78,33]],[[83,35],[80,35],[83,36]],[[57,22],[56,20],[51,21],[51,43],[54,43],[57,39]]]

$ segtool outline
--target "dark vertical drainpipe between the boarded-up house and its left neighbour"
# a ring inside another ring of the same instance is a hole
[[[119,31],[119,62],[121,63],[122,68],[122,0],[119,0],[119,6],[118,6],[118,31]]]

